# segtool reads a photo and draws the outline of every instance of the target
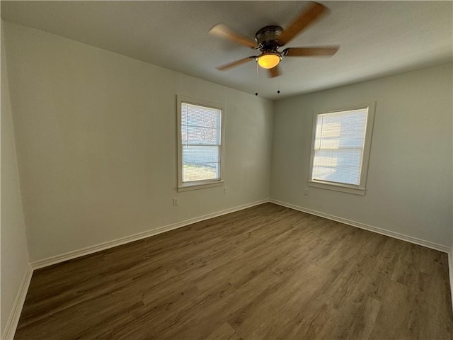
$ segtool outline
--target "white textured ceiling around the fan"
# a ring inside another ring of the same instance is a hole
[[[281,77],[260,69],[258,80],[253,61],[217,70],[256,53],[208,31],[226,23],[254,38],[286,28],[306,2],[1,1],[1,18],[271,99],[452,61],[452,1],[319,2],[330,13],[285,47],[340,45],[337,54],[287,57]]]

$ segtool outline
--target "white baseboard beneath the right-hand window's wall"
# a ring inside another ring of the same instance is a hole
[[[405,235],[405,234],[400,234],[398,232],[392,232],[391,230],[382,229],[382,228],[379,228],[379,227],[373,227],[372,225],[366,225],[365,223],[360,223],[360,222],[355,222],[355,221],[352,221],[352,220],[347,220],[347,219],[345,219],[343,217],[328,215],[328,214],[326,214],[324,212],[319,212],[319,211],[316,211],[316,210],[302,208],[302,207],[299,207],[297,205],[293,205],[293,204],[290,204],[290,203],[282,202],[280,200],[272,200],[271,199],[270,202],[271,203],[275,203],[277,205],[282,205],[282,206],[284,206],[286,208],[290,208],[290,209],[306,212],[307,214],[316,215],[316,216],[319,216],[319,217],[324,217],[324,218],[327,218],[328,220],[333,220],[333,221],[336,221],[336,222],[344,223],[345,225],[351,225],[352,227],[357,227],[357,228],[360,228],[360,229],[369,230],[370,232],[377,232],[377,234],[383,234],[385,236],[394,237],[395,239],[401,239],[402,241],[410,242],[410,243],[413,243],[413,244],[418,244],[420,246],[426,246],[427,248],[435,249],[435,250],[438,250],[438,251],[442,251],[444,253],[449,253],[449,251],[450,251],[449,246],[444,246],[442,244],[437,244],[437,243],[434,243],[434,242],[425,241],[424,239],[418,239],[416,237],[411,237],[411,236],[408,236],[408,235]]]

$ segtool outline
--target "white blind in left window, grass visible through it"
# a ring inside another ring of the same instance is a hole
[[[181,103],[182,181],[221,178],[222,109]]]

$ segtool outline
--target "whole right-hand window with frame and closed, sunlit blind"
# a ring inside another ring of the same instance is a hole
[[[309,186],[365,195],[374,103],[316,114]]]

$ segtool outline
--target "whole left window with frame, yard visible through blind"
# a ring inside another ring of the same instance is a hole
[[[178,96],[178,191],[222,186],[221,104]]]

